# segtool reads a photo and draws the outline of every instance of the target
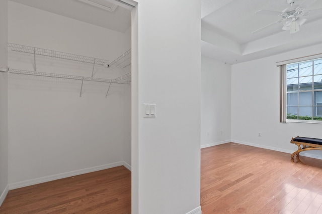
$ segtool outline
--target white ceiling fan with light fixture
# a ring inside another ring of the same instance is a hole
[[[306,8],[312,5],[316,0],[306,0],[300,5],[295,5],[296,0],[287,0],[287,3],[290,5],[290,7],[284,9],[282,12],[277,11],[267,11],[267,10],[260,10],[257,11],[255,14],[260,15],[269,15],[269,16],[279,16],[281,17],[281,20],[271,23],[267,26],[264,26],[263,28],[260,28],[253,33],[256,33],[258,31],[261,31],[267,27],[270,27],[274,24],[283,23],[282,30],[290,31],[290,34],[294,34],[300,30],[300,26],[302,26],[307,19],[304,19],[303,17],[308,16],[311,11],[306,11]],[[320,9],[318,9],[320,10]]]

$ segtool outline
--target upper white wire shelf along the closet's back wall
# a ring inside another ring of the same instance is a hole
[[[93,57],[86,57],[86,56],[76,55],[76,54],[69,54],[69,53],[64,53],[59,51],[52,51],[52,50],[43,49],[43,48],[36,48],[36,47],[19,45],[14,43],[8,43],[8,47],[10,47],[12,51],[18,51],[23,53],[29,53],[29,54],[35,54],[35,55],[41,55],[41,56],[47,56],[47,57],[55,57],[59,59],[73,60],[78,62],[85,62],[85,63],[91,63],[91,64],[107,66],[107,67],[109,65],[108,60],[103,60],[103,59],[98,59]]]

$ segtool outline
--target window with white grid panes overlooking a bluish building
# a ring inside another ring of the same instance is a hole
[[[286,119],[322,122],[322,58],[286,65]]]

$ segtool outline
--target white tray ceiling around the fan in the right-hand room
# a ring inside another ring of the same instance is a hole
[[[304,1],[296,0],[295,5]],[[295,34],[281,30],[282,23],[252,34],[281,19],[255,12],[282,12],[288,7],[287,0],[202,0],[202,55],[235,64],[322,43],[322,10],[305,17],[306,23]],[[314,1],[306,10],[313,9],[322,9],[322,0]]]

